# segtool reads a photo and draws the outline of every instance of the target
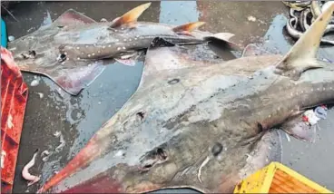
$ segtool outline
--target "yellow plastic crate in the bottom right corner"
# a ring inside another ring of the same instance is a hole
[[[280,162],[271,162],[267,167],[243,179],[234,193],[333,193],[312,180],[291,170]]]

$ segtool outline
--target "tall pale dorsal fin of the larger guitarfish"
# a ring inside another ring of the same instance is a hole
[[[276,67],[276,73],[289,76],[292,80],[298,80],[300,74],[306,70],[322,67],[316,60],[316,54],[321,37],[329,24],[333,11],[334,2],[319,15],[317,20],[310,25],[309,29],[293,45],[290,52],[283,57]]]

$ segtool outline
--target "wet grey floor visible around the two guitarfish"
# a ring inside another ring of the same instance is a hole
[[[69,8],[82,12],[99,21],[123,15],[124,12],[142,2],[22,2],[15,5],[15,22],[5,16],[8,34],[16,38],[34,32],[44,23],[49,23]],[[142,21],[184,24],[194,21],[207,22],[202,28],[214,33],[236,34],[234,40],[241,44],[263,43],[266,48],[286,53],[293,43],[284,36],[283,26],[288,16],[288,8],[280,2],[218,2],[218,1],[163,1],[153,2],[142,15]],[[249,21],[248,16],[256,18]],[[319,57],[334,60],[333,48],[321,49]],[[141,78],[142,63],[134,67],[119,63],[109,65],[88,88],[73,97],[62,91],[54,82],[41,77],[37,86],[30,86],[33,74],[24,73],[29,84],[29,100],[25,112],[25,124],[21,139],[15,177],[15,192],[34,192],[54,171],[61,170],[68,160],[83,147],[94,131],[113,116],[136,90]],[[37,75],[38,76],[38,75]],[[40,77],[40,76],[38,76]],[[40,98],[39,93],[44,97]],[[325,121],[320,121],[321,131],[318,141],[307,143],[291,138],[283,140],[283,163],[319,184],[334,190],[334,112],[329,112]],[[55,131],[64,134],[65,146],[49,160],[37,158],[33,174],[42,173],[42,180],[27,189],[21,177],[21,170],[34,154],[35,149],[54,150],[59,145]],[[283,133],[282,133],[283,134]]]

